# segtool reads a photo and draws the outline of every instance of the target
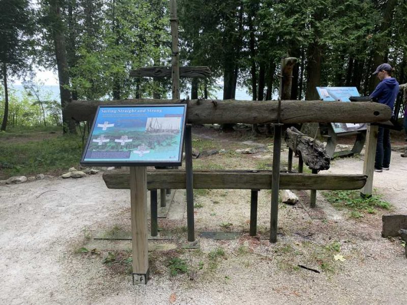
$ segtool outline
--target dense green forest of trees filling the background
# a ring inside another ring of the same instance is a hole
[[[280,58],[300,59],[292,99],[317,99],[315,86],[356,86],[368,95],[383,62],[407,78],[407,0],[178,0],[181,66],[208,66],[209,79],[182,79],[191,98],[247,88],[269,100]],[[8,83],[36,67],[55,69],[61,105],[70,100],[166,97],[169,79],[131,78],[132,69],[169,66],[168,0],[0,0],[2,130]],[[32,76],[31,76],[32,77]],[[64,117],[66,131],[75,126]]]

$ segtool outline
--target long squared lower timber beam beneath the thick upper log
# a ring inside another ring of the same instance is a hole
[[[272,171],[194,171],[194,189],[271,189]],[[365,175],[280,174],[280,190],[358,190]],[[109,189],[129,189],[129,172],[113,170],[103,173]],[[147,173],[147,188],[185,189],[184,170],[156,170]]]

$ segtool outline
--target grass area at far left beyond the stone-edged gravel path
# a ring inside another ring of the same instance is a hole
[[[60,174],[77,166],[82,155],[80,135],[44,135],[41,138],[28,130],[0,134],[0,178],[38,173]],[[12,137],[19,139],[11,140]]]

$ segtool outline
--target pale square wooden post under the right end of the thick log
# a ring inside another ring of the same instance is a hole
[[[376,144],[377,144],[377,132],[379,126],[368,125],[366,134],[366,148],[365,148],[365,160],[363,162],[363,174],[367,176],[366,184],[362,188],[360,195],[362,197],[371,197],[373,189],[373,173],[374,173],[374,159],[376,157]]]

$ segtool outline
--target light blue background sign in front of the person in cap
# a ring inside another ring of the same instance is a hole
[[[359,97],[356,87],[316,87],[319,97],[323,101],[351,102],[350,97]],[[360,123],[331,123],[335,133],[366,130],[366,124]]]

